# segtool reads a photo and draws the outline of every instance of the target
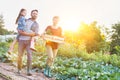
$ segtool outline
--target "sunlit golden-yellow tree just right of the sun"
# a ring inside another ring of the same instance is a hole
[[[85,42],[88,53],[100,51],[100,48],[102,47],[101,43],[104,41],[104,38],[101,35],[101,31],[98,28],[96,21],[89,25],[82,23],[78,34],[78,38]]]

